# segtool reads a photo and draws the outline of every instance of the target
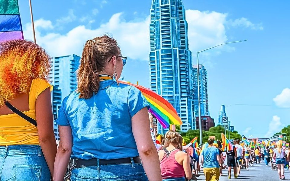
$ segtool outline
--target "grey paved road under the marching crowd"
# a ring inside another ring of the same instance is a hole
[[[223,170],[223,175],[220,176],[220,180],[228,180],[227,170]],[[240,176],[234,179],[234,173],[232,170],[232,179],[234,181],[245,181],[245,180],[279,180],[277,171],[272,171],[271,166],[265,164],[254,164],[249,167],[249,170],[242,169]],[[205,175],[202,173],[201,176],[197,177],[198,180],[205,180]],[[285,179],[290,180],[289,170],[285,170]]]

